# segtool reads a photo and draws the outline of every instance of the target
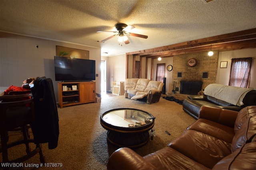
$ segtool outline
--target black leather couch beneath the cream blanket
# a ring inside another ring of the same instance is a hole
[[[182,102],[183,110],[194,117],[195,119],[198,119],[199,111],[202,106],[212,106],[212,107],[218,107],[221,109],[228,109],[228,110],[234,110],[234,111],[240,111],[242,108],[246,106],[254,106],[256,105],[256,90],[251,90],[246,94],[246,96],[243,99],[244,105],[242,106],[236,106],[233,104],[230,104],[228,102],[225,102],[223,100],[216,99],[212,96],[208,95],[191,95],[188,96],[188,98],[184,99]]]

